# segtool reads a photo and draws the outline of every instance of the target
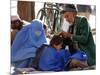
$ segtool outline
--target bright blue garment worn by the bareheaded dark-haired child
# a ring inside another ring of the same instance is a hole
[[[68,64],[70,53],[67,50],[57,51],[53,47],[44,48],[39,61],[39,68],[43,71],[62,71]]]

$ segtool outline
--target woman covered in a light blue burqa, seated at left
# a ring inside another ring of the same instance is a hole
[[[35,52],[42,44],[47,43],[43,22],[34,19],[31,24],[23,27],[11,47],[11,63],[15,68],[28,67]]]

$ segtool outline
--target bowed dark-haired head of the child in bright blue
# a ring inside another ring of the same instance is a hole
[[[59,35],[54,35],[50,41],[50,45],[56,48],[57,50],[60,50],[62,48],[62,44],[63,39]]]

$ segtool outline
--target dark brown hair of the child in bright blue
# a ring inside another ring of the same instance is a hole
[[[54,35],[50,41],[50,45],[59,45],[63,43],[63,38],[60,37],[59,35]]]

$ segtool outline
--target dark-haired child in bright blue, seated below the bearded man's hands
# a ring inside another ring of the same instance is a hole
[[[64,68],[64,55],[66,54],[66,62],[70,53],[61,50],[63,40],[60,36],[55,35],[50,41],[50,46],[45,47],[39,61],[39,68],[42,71],[61,71]]]

